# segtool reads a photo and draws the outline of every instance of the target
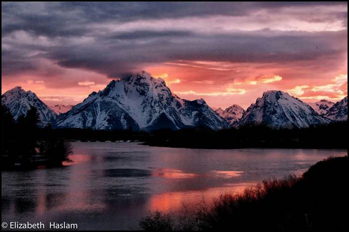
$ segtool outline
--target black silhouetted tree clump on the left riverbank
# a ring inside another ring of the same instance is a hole
[[[39,123],[34,107],[15,121],[1,105],[1,169],[57,167],[69,161],[70,144],[58,137],[49,124],[40,128]]]

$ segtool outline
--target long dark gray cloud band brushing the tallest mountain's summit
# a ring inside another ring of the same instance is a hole
[[[125,71],[137,72],[151,63],[176,60],[206,60],[228,62],[291,62],[316,60],[324,56],[342,57],[347,46],[333,46],[334,40],[346,36],[345,31],[302,33],[298,36],[266,36],[242,34],[183,35],[183,40],[155,35],[145,43],[126,33],[118,38],[103,38],[86,46],[60,46],[52,48],[46,56],[58,60],[64,67],[79,67],[98,71],[108,77],[119,77]],[[124,37],[124,38],[123,38]],[[123,39],[120,39],[123,38]],[[123,43],[126,40],[130,43]],[[143,41],[143,38],[142,38]]]

